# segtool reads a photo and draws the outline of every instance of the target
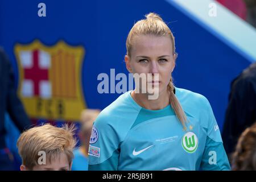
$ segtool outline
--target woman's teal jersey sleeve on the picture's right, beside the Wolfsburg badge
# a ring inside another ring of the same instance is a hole
[[[222,143],[220,129],[218,129],[212,107],[208,101],[207,105],[209,110],[208,129],[206,130],[207,139],[200,169],[206,171],[230,170],[230,164]]]

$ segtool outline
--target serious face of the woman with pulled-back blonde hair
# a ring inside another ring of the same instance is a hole
[[[141,35],[133,39],[131,57],[125,56],[126,68],[130,73],[150,73],[152,87],[158,86],[159,94],[167,90],[171,73],[175,67],[172,41],[168,36]],[[159,79],[154,82],[158,74]]]

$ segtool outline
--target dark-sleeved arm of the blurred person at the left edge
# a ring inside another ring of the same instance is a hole
[[[10,118],[13,120],[14,124],[17,126],[20,132],[24,129],[28,129],[31,126],[31,121],[28,118],[26,112],[24,111],[22,102],[20,102],[14,85],[14,72],[11,67],[10,61],[7,56],[1,51],[3,55],[3,61],[6,61],[7,69],[7,97],[6,97],[6,106],[7,112],[10,115]]]

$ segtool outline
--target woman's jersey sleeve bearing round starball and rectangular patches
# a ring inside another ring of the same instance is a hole
[[[88,171],[116,171],[118,168],[118,134],[106,120],[99,117],[94,122],[88,151]]]

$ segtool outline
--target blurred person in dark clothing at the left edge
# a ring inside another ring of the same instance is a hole
[[[6,53],[0,47],[0,170],[14,170],[14,158],[5,142],[5,114],[21,133],[31,125],[15,89],[14,72]]]

